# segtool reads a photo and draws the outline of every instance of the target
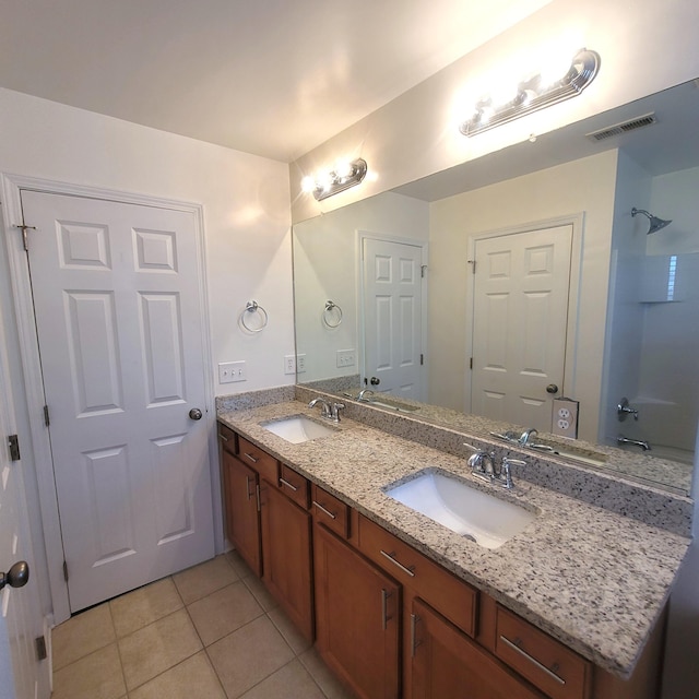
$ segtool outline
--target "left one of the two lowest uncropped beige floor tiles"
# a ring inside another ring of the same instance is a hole
[[[202,649],[186,609],[179,609],[119,639],[119,651],[131,691]]]

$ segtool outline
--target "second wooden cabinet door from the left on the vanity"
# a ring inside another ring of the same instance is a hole
[[[308,640],[313,638],[310,514],[261,481],[262,580]]]

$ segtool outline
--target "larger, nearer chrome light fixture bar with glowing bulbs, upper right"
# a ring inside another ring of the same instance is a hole
[[[464,135],[472,137],[576,97],[594,80],[599,69],[600,55],[583,48],[573,57],[568,72],[553,83],[546,84],[540,73],[519,83],[516,96],[506,104],[495,104],[489,95],[482,97],[475,105],[473,116],[459,130]]]

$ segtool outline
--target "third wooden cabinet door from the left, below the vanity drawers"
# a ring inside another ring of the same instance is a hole
[[[399,697],[400,587],[324,526],[313,540],[318,650],[363,699]]]

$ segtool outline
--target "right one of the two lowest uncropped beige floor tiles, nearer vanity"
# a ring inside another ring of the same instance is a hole
[[[264,616],[216,641],[206,652],[228,699],[240,697],[294,659]]]

